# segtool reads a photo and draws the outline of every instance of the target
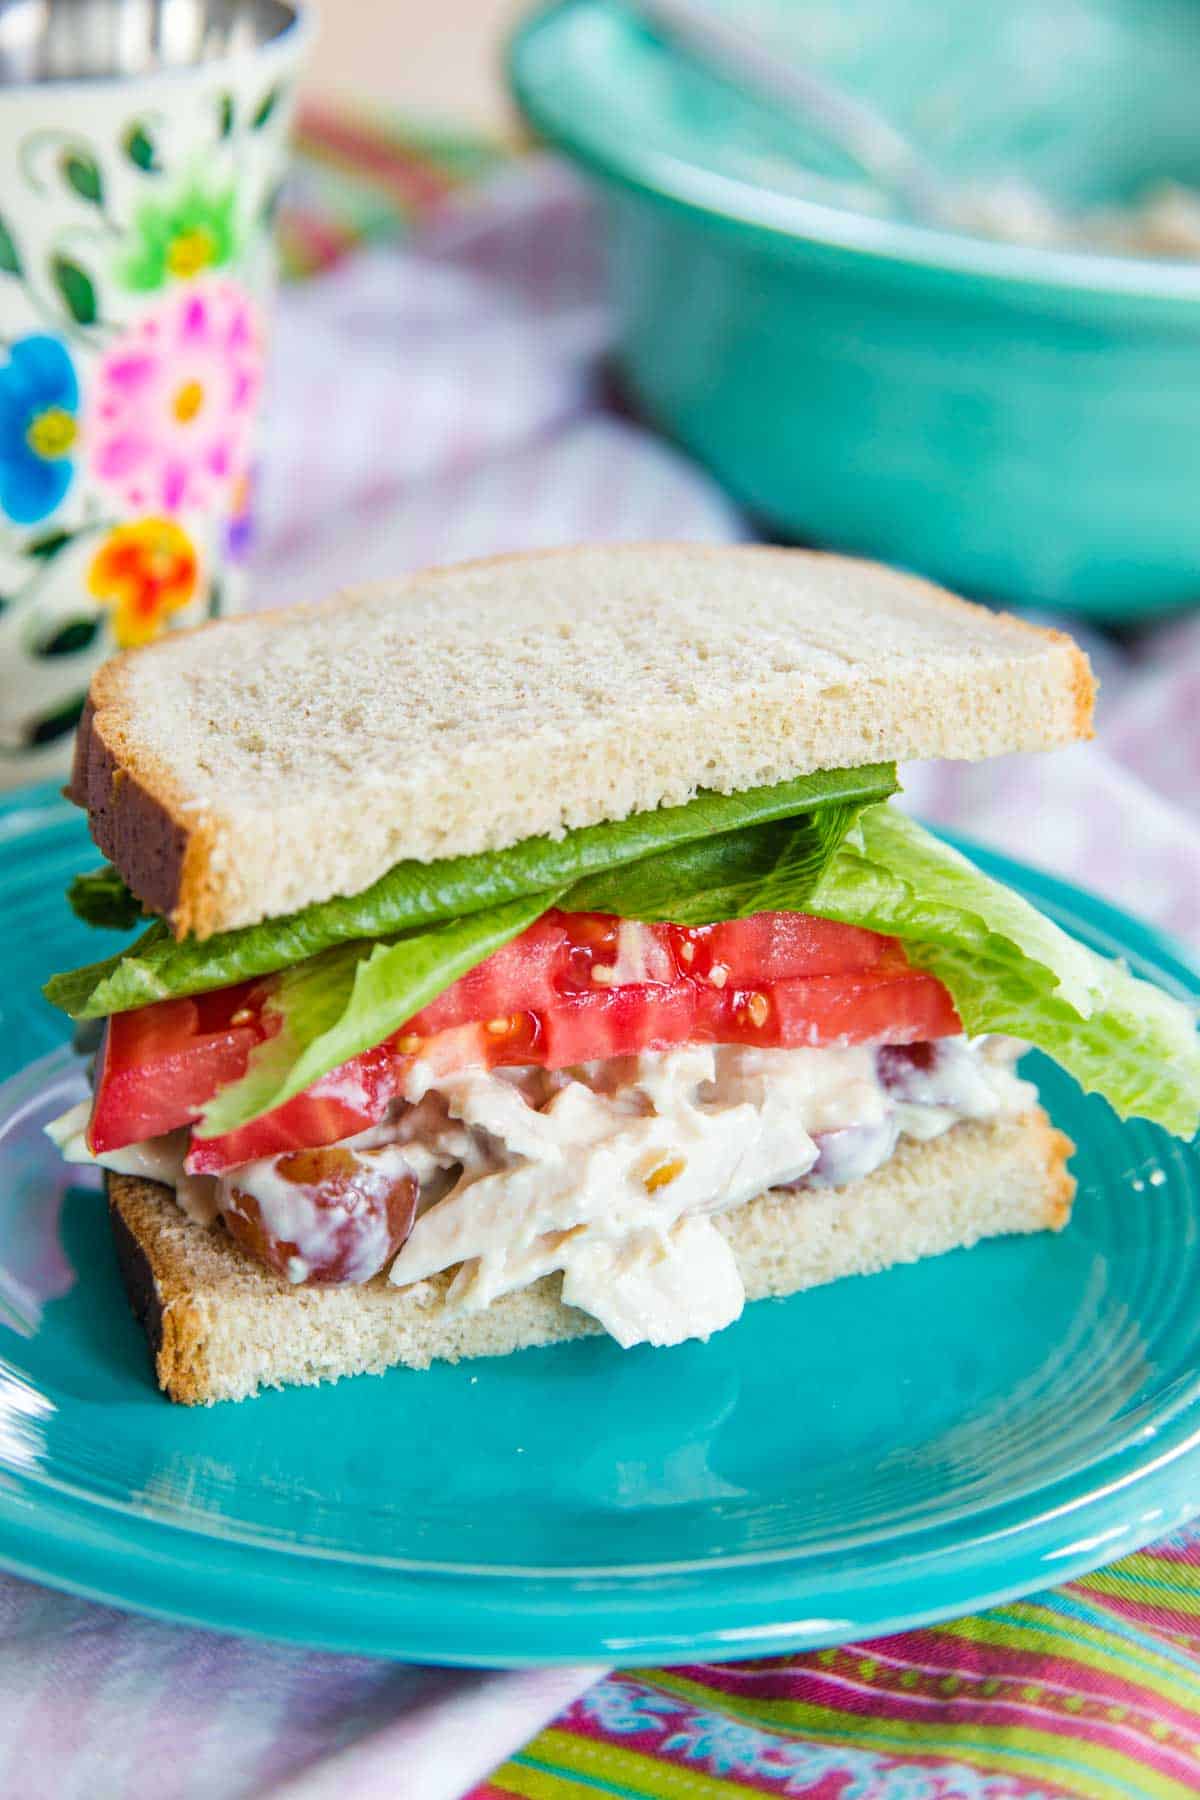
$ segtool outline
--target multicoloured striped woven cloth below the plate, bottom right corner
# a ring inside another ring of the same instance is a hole
[[[1186,1800],[1200,1537],[979,1618],[608,1676],[471,1800]]]

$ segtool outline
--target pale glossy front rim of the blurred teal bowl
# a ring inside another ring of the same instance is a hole
[[[556,22],[597,0],[549,0],[509,34],[504,67],[516,106],[533,130],[578,164],[617,185],[725,225],[741,225],[775,241],[808,243],[835,254],[878,263],[909,265],[937,275],[988,279],[1000,284],[1040,286],[1090,295],[1150,301],[1200,301],[1200,259],[1115,256],[1105,250],[1043,248],[997,238],[916,225],[880,214],[837,207],[801,194],[761,187],[721,175],[684,157],[644,151],[633,139],[588,131],[561,104],[543,101],[529,74],[534,38]]]

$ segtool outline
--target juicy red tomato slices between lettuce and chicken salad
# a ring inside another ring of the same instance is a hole
[[[94,1150],[189,1125],[245,1073],[270,1030],[270,983],[160,1001],[110,1024],[88,1130]],[[894,938],[801,913],[685,929],[545,913],[394,1037],[225,1138],[189,1168],[219,1172],[351,1138],[378,1123],[414,1058],[549,1069],[675,1044],[912,1044],[959,1031],[950,995]]]

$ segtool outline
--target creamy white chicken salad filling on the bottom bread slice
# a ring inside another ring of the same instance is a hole
[[[637,954],[619,947],[621,958]],[[419,1183],[417,1220],[390,1265],[396,1285],[457,1269],[446,1303],[475,1312],[558,1271],[563,1300],[619,1343],[669,1345],[707,1337],[741,1312],[741,1278],[714,1213],[768,1188],[860,1181],[901,1136],[1027,1111],[1036,1094],[1013,1073],[1016,1049],[1002,1039],[684,1046],[558,1073],[441,1076],[417,1062],[394,1116],[345,1143]],[[95,1161],[85,1125],[86,1105],[52,1136],[67,1157]],[[268,1229],[300,1246],[288,1273],[304,1280],[317,1222],[275,1159],[189,1177],[185,1147],[187,1132],[175,1132],[99,1161],[175,1184],[193,1215],[221,1211],[232,1186],[252,1193]]]

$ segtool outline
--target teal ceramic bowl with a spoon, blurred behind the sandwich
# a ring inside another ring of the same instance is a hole
[[[721,4],[955,178],[1067,209],[1200,187],[1191,0]],[[820,146],[617,0],[536,14],[509,70],[601,184],[635,403],[770,529],[1110,621],[1200,601],[1200,263],[829,203]]]

